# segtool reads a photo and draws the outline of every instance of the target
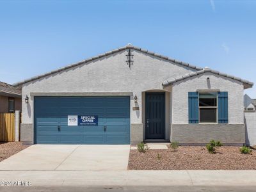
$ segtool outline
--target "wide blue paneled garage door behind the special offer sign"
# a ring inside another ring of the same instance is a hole
[[[35,97],[35,143],[129,144],[129,97]],[[68,126],[68,115],[98,116],[98,125]]]

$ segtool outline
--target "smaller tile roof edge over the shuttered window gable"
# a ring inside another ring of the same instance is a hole
[[[184,76],[179,76],[179,77],[175,77],[175,78],[170,79],[170,80],[166,80],[166,81],[163,82],[163,86],[167,86],[169,84],[173,84],[175,82],[178,82],[178,81],[181,81],[181,80],[184,80],[184,79],[188,79],[189,77],[198,76],[200,74],[204,74],[205,72],[211,72],[212,74],[217,74],[219,76],[228,77],[230,79],[241,81],[244,84],[248,84],[250,87],[253,86],[253,83],[250,82],[250,81],[247,81],[245,79],[241,79],[241,78],[236,77],[236,76],[230,76],[228,74],[224,74],[224,73],[218,72],[217,70],[212,70],[211,68],[208,68],[208,67],[205,67],[204,69],[198,70],[196,72],[191,72],[191,73],[186,74]]]

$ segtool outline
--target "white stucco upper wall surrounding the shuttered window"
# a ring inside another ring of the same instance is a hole
[[[207,81],[209,77],[209,81]],[[211,73],[185,79],[172,87],[172,124],[188,124],[188,92],[220,89],[228,92],[228,124],[244,124],[243,84]]]

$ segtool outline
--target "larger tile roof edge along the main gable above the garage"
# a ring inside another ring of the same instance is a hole
[[[40,76],[35,76],[35,77],[31,77],[30,79],[25,79],[24,81],[20,81],[20,82],[17,82],[17,83],[14,83],[13,86],[19,86],[20,84],[24,84],[24,83],[28,83],[30,81],[34,81],[36,79],[40,79],[42,77],[46,77],[46,76],[49,76],[51,74],[55,74],[55,73],[58,73],[58,72],[61,72],[63,70],[66,70],[68,68],[72,68],[72,67],[76,67],[77,65],[82,65],[84,63],[88,63],[90,61],[93,61],[93,60],[97,60],[99,58],[102,58],[104,56],[108,56],[110,54],[114,54],[116,52],[120,52],[120,51],[124,51],[125,49],[134,49],[136,51],[140,51],[140,52],[143,52],[143,53],[146,53],[146,54],[149,54],[151,56],[156,56],[157,58],[161,58],[163,60],[167,60],[167,61],[171,61],[173,63],[176,63],[176,64],[179,64],[179,65],[182,65],[184,67],[189,67],[189,68],[193,68],[195,70],[202,70],[203,68],[202,67],[196,67],[195,65],[191,65],[189,63],[184,63],[182,61],[178,61],[178,60],[173,60],[172,58],[169,58],[168,56],[163,56],[161,54],[157,54],[156,52],[151,52],[151,51],[148,51],[146,49],[141,49],[140,47],[135,47],[131,44],[128,44],[126,45],[125,47],[120,47],[118,49],[114,49],[112,51],[108,51],[108,52],[105,52],[103,54],[99,54],[98,56],[94,56],[92,58],[89,58],[87,60],[83,60],[83,61],[79,61],[78,63],[74,63],[72,65],[68,65],[66,67],[62,67],[62,68],[59,68],[58,70],[53,70],[51,72],[47,72],[46,74],[42,74]]]

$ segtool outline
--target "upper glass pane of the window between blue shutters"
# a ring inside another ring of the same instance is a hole
[[[216,107],[217,94],[216,93],[200,93],[199,106],[200,107]]]

